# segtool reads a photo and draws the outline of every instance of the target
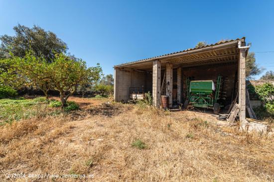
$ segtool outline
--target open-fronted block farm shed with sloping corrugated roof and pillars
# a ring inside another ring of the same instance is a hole
[[[186,99],[186,81],[225,79],[222,95],[226,104],[237,97],[240,121],[246,119],[246,46],[245,37],[220,41],[200,48],[115,65],[115,101],[128,102],[132,93],[151,92],[153,105],[160,107],[162,85],[169,107]],[[165,79],[164,79],[165,78]]]

